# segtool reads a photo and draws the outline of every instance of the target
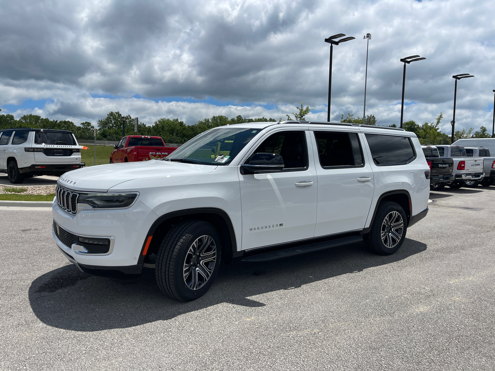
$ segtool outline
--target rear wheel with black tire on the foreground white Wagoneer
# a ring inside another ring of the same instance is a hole
[[[397,226],[391,229],[394,222]],[[399,223],[401,224],[398,225]],[[391,255],[402,246],[406,232],[407,217],[404,209],[396,202],[386,201],[378,206],[371,232],[365,236],[364,241],[371,251]]]

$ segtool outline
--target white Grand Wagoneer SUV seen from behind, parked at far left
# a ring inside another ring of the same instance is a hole
[[[37,175],[60,176],[79,169],[81,148],[72,132],[50,129],[0,130],[0,172],[10,183]]]

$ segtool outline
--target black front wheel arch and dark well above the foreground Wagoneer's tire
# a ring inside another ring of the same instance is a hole
[[[225,211],[209,207],[172,211],[156,219],[149,228],[146,238],[143,241],[138,264],[144,263],[150,254],[156,254],[163,236],[170,228],[177,223],[189,219],[204,220],[205,222],[213,224],[222,240],[222,259],[225,264],[229,264],[232,261],[233,254],[237,252],[234,226],[229,215]],[[149,236],[152,236],[152,238],[145,251]]]

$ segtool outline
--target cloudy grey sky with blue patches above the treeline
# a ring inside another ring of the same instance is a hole
[[[326,121],[329,44],[332,120],[366,113],[398,124],[444,112],[456,126],[491,132],[495,89],[493,0],[18,0],[0,7],[0,108],[96,124],[108,111],[152,124],[213,115],[285,117],[304,101]]]

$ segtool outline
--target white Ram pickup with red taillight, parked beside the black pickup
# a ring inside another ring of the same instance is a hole
[[[451,157],[454,160],[452,175],[454,180],[447,183],[450,188],[460,188],[466,181],[482,181],[483,158],[468,157],[462,145],[436,145],[441,158]]]

